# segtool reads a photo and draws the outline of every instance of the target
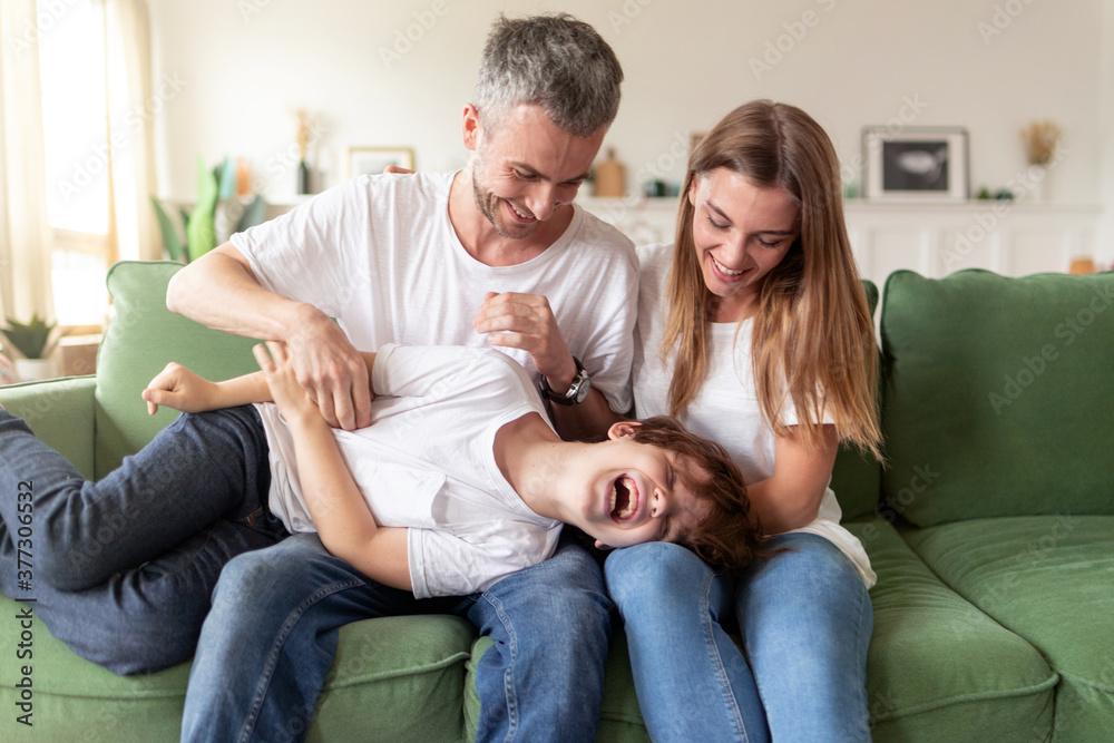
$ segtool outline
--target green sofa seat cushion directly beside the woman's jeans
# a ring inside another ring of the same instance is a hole
[[[886,520],[844,526],[878,574],[867,662],[874,740],[1045,740],[1057,676],[1040,654],[944,585]]]

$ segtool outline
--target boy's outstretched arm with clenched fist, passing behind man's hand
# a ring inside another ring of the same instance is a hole
[[[374,353],[363,353],[368,365],[368,379],[375,363]],[[271,390],[263,372],[253,372],[223,382],[211,382],[198,377],[179,363],[170,362],[166,369],[147,383],[141,393],[147,401],[147,413],[154,416],[159,405],[174,408],[184,413],[201,413],[221,408],[235,408],[252,402],[273,402]],[[375,393],[371,393],[375,399]]]

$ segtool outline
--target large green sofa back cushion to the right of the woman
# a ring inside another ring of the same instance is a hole
[[[1114,274],[886,282],[882,496],[909,522],[1114,514]]]

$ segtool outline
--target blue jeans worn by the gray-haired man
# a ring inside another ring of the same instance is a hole
[[[468,597],[419,600],[295,535],[233,559],[189,674],[184,741],[302,740],[338,628],[371,617],[466,616],[490,647],[477,667],[478,741],[594,741],[610,602],[588,553],[557,554]]]

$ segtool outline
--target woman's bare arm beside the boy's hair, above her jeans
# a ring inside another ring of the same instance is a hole
[[[751,507],[765,534],[781,534],[811,524],[831,480],[839,439],[834,426],[824,426],[820,443],[804,446],[800,427],[774,443],[774,472],[764,480],[746,483]]]

